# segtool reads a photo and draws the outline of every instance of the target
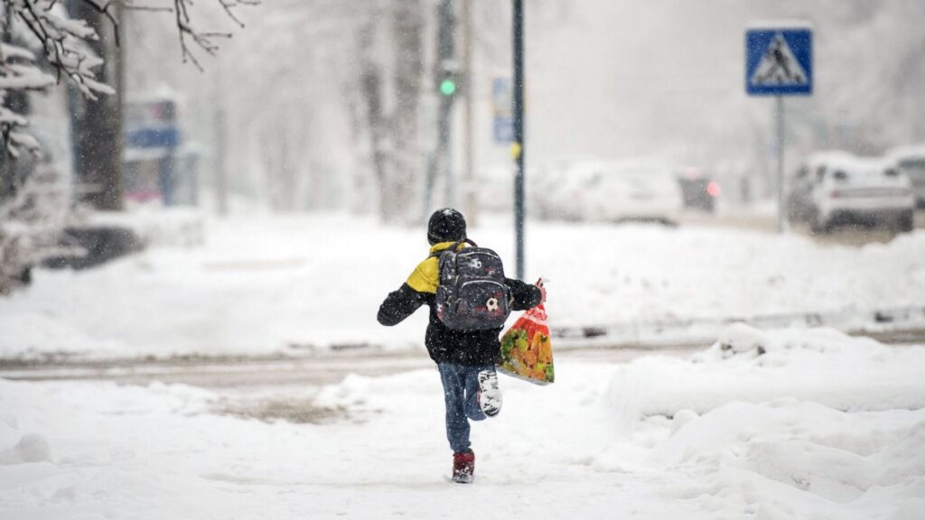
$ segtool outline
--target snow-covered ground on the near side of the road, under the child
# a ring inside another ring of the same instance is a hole
[[[925,517],[925,347],[736,326],[685,359],[557,368],[502,379],[471,486],[447,481],[433,369],[246,391],[0,380],[0,517]],[[308,422],[222,413],[271,395]]]

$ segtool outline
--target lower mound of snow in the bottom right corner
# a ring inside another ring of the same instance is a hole
[[[845,413],[814,402],[734,402],[689,420],[650,464],[695,481],[666,499],[759,518],[920,518],[925,411]],[[832,516],[835,514],[835,516]]]

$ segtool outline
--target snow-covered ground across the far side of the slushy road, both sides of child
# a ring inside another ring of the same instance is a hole
[[[38,270],[0,299],[0,357],[421,348],[425,312],[396,328],[374,316],[424,258],[422,229],[339,215],[207,219],[202,237],[183,226],[195,240],[166,240],[164,224],[154,242],[169,246],[89,271]],[[862,248],[718,228],[537,222],[527,233],[528,278],[549,279],[553,328],[925,306],[922,231]],[[507,219],[470,234],[512,269]]]

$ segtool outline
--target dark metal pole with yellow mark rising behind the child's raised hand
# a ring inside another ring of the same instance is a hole
[[[524,279],[524,0],[513,0],[514,235],[517,278]]]

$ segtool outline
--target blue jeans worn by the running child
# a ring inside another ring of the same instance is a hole
[[[494,370],[492,365],[466,366],[439,363],[443,397],[447,402],[447,440],[453,452],[469,449],[469,419],[481,421],[485,413],[478,407],[478,373]]]

